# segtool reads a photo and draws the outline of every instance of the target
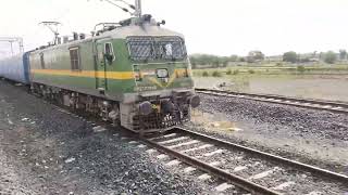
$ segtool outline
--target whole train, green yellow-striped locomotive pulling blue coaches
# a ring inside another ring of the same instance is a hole
[[[1,60],[0,76],[138,133],[186,122],[200,104],[183,35],[151,15]]]

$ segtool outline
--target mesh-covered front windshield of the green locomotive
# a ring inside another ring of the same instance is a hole
[[[130,58],[146,60],[184,60],[185,42],[179,37],[129,37],[127,38]]]

